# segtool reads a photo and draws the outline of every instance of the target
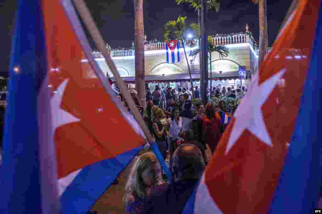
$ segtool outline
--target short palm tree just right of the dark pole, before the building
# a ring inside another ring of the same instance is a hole
[[[225,58],[229,54],[229,49],[225,45],[214,45],[211,36],[208,36],[208,52],[209,52],[209,60],[210,60],[210,91],[212,91],[212,68],[211,68],[211,54],[213,52],[219,53],[219,59]],[[196,48],[194,51],[191,52],[192,56],[197,55],[200,53],[201,49]]]

